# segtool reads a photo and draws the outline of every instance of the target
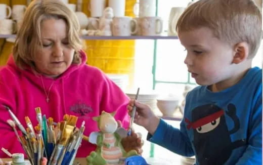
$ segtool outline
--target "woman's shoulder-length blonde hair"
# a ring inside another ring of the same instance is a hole
[[[36,49],[39,45],[42,46],[40,25],[42,21],[48,19],[65,21],[69,45],[75,50],[72,63],[81,62],[78,53],[81,49],[81,40],[78,35],[80,26],[74,12],[58,0],[34,0],[25,12],[22,28],[17,33],[13,48],[15,63],[21,69],[26,65],[34,68]]]

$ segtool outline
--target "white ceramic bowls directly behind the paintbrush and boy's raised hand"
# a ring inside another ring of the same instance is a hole
[[[137,90],[134,90],[134,92],[127,92],[126,95],[130,99],[135,99],[136,91]],[[158,94],[155,91],[142,91],[140,89],[138,101],[140,101],[141,103],[149,105],[151,110],[156,112],[158,110],[158,108],[156,106],[156,98],[157,97],[158,97]]]

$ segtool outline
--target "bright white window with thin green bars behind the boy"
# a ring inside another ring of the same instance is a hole
[[[159,1],[160,2],[160,1]],[[163,19],[163,31],[167,33],[169,12],[172,7],[186,7],[189,1],[162,1],[158,3],[158,16]],[[134,87],[153,89],[153,63],[154,40],[136,40],[135,76]],[[164,94],[173,94],[181,97],[186,82],[194,84],[195,80],[189,77],[187,67],[184,64],[186,52],[178,39],[156,40],[156,68],[155,79],[157,81],[177,83],[156,83],[155,89]],[[262,68],[262,43],[252,66]],[[189,78],[189,81],[188,81]],[[135,90],[136,91],[136,90]]]

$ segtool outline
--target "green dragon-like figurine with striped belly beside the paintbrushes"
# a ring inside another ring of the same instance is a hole
[[[100,132],[92,132],[89,141],[97,145],[86,157],[89,165],[124,164],[123,159],[138,155],[136,150],[126,152],[121,145],[121,139],[127,136],[127,131],[118,127],[113,117],[115,112],[102,111],[98,117],[93,117],[98,122]]]

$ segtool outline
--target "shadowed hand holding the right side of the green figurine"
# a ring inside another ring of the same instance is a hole
[[[127,136],[125,138],[121,139],[121,144],[123,146],[123,149],[126,152],[129,152],[130,150],[136,150],[138,154],[142,154],[142,146],[143,146],[143,140],[138,134],[134,132],[134,130],[131,131],[131,135]]]

